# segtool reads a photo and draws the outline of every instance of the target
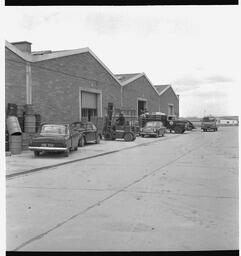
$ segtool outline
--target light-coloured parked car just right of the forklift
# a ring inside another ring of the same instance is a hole
[[[164,136],[165,132],[166,128],[161,121],[148,121],[141,129],[140,135],[141,137],[144,137],[145,135],[159,137]]]

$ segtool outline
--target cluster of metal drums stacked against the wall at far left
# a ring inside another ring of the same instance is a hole
[[[22,150],[28,150],[30,141],[40,127],[41,116],[35,113],[32,104],[9,103],[6,124],[5,150],[20,154]]]

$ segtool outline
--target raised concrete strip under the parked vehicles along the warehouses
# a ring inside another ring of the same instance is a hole
[[[162,140],[172,139],[177,136],[180,136],[180,134],[167,133],[165,134],[165,137],[160,138],[137,137],[134,142],[125,142],[124,140],[101,140],[100,144],[88,144],[82,148],[79,147],[78,151],[71,152],[69,157],[64,157],[63,154],[56,153],[48,153],[35,157],[32,151],[25,151],[20,155],[6,157],[6,178],[12,179],[19,175],[25,175],[31,172],[41,171],[94,157],[100,157]]]

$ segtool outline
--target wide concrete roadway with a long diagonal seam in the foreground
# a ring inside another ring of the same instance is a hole
[[[7,250],[238,249],[238,128],[7,180],[6,202]]]

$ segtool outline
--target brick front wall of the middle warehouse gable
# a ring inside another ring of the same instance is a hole
[[[149,112],[159,111],[159,96],[144,76],[123,87],[123,106],[125,108],[134,109],[137,113],[137,98],[147,100]]]

